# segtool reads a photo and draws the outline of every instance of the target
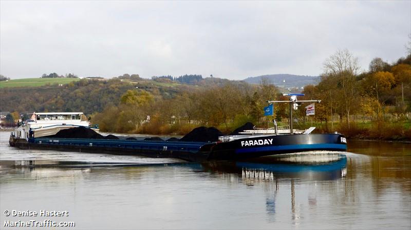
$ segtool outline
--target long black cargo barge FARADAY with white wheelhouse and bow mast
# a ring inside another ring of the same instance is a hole
[[[297,101],[296,95],[291,94],[289,101],[269,102],[290,103],[290,121],[292,121],[294,105],[298,102],[310,101]],[[304,131],[294,130],[292,122],[290,122],[290,129],[277,129],[275,120],[273,120],[275,129],[244,130],[240,135],[220,136],[214,141],[123,140],[99,137],[95,139],[92,136],[83,139],[61,138],[55,135],[70,130],[91,131],[89,123],[81,121],[81,115],[82,113],[34,114],[32,120],[21,124],[11,133],[9,144],[20,149],[139,155],[196,162],[249,160],[317,150],[345,152],[347,149],[346,138],[340,133],[311,134],[314,127]],[[96,133],[96,136],[98,135],[101,136]]]

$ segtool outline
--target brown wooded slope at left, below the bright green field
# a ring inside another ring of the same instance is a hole
[[[0,90],[0,111],[101,112],[117,105],[127,90],[144,90],[156,98],[170,98],[190,87],[154,81],[81,79],[59,86],[13,87]]]

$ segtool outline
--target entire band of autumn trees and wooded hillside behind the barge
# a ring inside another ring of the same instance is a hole
[[[338,131],[353,139],[411,140],[411,54],[392,64],[374,58],[368,71],[361,71],[352,53],[338,50],[324,61],[323,70],[320,82],[305,86],[305,96],[299,97],[321,103],[315,104],[314,116],[306,116],[308,104],[301,104],[293,112],[294,128],[315,126],[314,132]],[[14,116],[80,111],[104,132],[184,135],[206,126],[228,134],[246,122],[260,128],[272,127],[272,119],[287,124],[288,104],[275,104],[273,117],[263,111],[268,99],[288,100],[283,93],[265,78],[250,84],[201,75],[143,79],[124,74],[2,88],[0,110]]]

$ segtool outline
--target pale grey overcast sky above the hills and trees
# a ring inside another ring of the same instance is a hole
[[[363,70],[406,55],[411,1],[0,2],[0,72],[113,77],[319,75],[348,49]]]

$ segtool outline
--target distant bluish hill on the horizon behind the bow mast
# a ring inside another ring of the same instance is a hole
[[[304,76],[304,75],[293,75],[293,74],[270,74],[262,75],[257,77],[248,77],[244,81],[252,84],[259,84],[261,78],[266,78],[270,83],[277,87],[286,88],[297,87],[301,88],[306,85],[317,85],[320,82],[320,77],[318,76]],[[285,80],[285,83],[284,83]]]

